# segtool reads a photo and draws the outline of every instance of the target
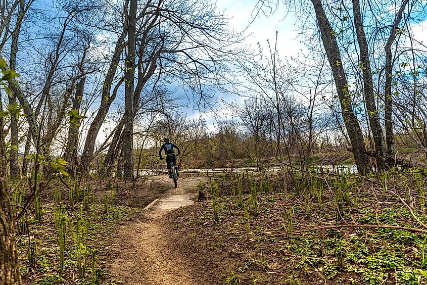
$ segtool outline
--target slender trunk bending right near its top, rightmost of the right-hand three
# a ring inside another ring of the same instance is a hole
[[[387,40],[385,50],[386,50],[386,66],[385,66],[385,76],[386,84],[384,86],[384,102],[385,102],[385,113],[384,120],[386,125],[386,145],[387,145],[387,155],[388,163],[390,167],[393,167],[395,164],[395,151],[394,151],[394,131],[393,131],[393,96],[392,96],[392,73],[393,73],[393,62],[392,62],[392,44],[396,39],[396,31],[400,21],[402,20],[403,11],[408,4],[409,0],[404,0],[402,6],[397,12],[395,21],[390,31],[389,39]]]

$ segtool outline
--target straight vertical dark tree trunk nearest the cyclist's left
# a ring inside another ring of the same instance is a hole
[[[124,105],[124,129],[123,129],[123,176],[125,179],[133,178],[133,92],[135,77],[136,57],[136,8],[137,1],[130,0],[127,58],[125,72],[125,105]]]

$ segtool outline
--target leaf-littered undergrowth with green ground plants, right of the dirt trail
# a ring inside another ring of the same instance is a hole
[[[294,174],[213,178],[215,207],[174,213],[181,246],[231,257],[219,284],[427,284],[424,174]]]

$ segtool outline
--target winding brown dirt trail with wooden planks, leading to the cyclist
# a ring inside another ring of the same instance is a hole
[[[145,211],[145,216],[136,222],[123,226],[115,240],[113,251],[117,256],[110,268],[116,279],[125,284],[207,284],[207,280],[194,270],[197,261],[187,260],[179,254],[174,245],[166,239],[164,215],[197,200],[197,184],[205,177],[188,177],[178,180],[178,188],[166,176],[155,179],[166,180],[170,189],[162,199]],[[170,240],[170,239],[169,239]]]

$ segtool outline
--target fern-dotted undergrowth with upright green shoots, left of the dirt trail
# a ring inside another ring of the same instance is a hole
[[[141,210],[118,206],[118,187],[111,183],[101,191],[102,199],[96,198],[90,186],[71,180],[68,189],[59,185],[41,188],[17,221],[23,283],[114,284],[107,268],[109,258],[116,254],[112,239],[120,225]],[[23,206],[28,197],[25,188],[15,188],[11,200]],[[15,216],[20,211],[13,206]]]

